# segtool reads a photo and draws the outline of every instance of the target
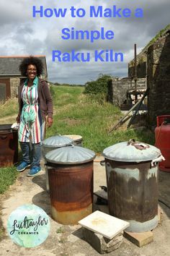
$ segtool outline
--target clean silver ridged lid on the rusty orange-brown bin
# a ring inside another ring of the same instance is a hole
[[[78,146],[57,148],[45,155],[47,162],[61,164],[86,163],[92,161],[94,158],[94,151]]]

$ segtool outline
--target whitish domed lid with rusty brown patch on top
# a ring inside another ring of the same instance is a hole
[[[143,142],[120,142],[103,150],[104,158],[123,162],[151,161],[161,155],[161,151]]]

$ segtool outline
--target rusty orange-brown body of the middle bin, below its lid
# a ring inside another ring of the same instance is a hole
[[[93,161],[47,167],[53,219],[71,225],[92,213]]]

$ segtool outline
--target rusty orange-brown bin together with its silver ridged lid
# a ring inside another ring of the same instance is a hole
[[[45,155],[55,221],[76,224],[92,213],[95,153],[78,146],[63,147]]]

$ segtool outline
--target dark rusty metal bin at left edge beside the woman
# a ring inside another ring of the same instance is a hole
[[[12,124],[0,124],[0,167],[18,162],[18,132]]]

